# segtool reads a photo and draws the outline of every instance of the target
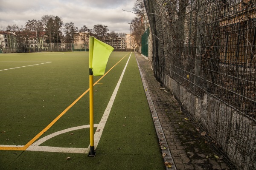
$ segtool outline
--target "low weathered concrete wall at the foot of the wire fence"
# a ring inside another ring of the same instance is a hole
[[[164,85],[182,107],[205,128],[207,136],[224,151],[237,169],[256,169],[256,124],[214,96],[203,98],[189,91],[165,74]]]

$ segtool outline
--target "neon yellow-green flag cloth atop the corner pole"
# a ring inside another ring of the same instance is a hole
[[[104,75],[108,58],[114,48],[94,37],[89,40],[89,68],[92,68],[93,76]]]

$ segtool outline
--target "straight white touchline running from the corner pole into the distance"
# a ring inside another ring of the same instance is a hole
[[[131,54],[130,54],[130,57],[131,57]],[[128,62],[129,62],[130,57],[128,58],[128,60],[127,60],[127,62],[126,62],[125,68],[124,68],[123,71],[122,71],[122,74],[121,74],[121,76],[120,76],[120,78],[119,78],[119,80],[118,80],[118,82],[117,82],[117,84],[116,84],[116,88],[115,88],[115,90],[113,91],[113,94],[112,94],[112,96],[111,96],[111,98],[110,98],[110,101],[108,102],[107,108],[105,109],[105,112],[104,112],[104,114],[103,114],[103,116],[102,116],[102,119],[100,120],[99,125],[98,125],[98,127],[97,127],[97,130],[96,130],[96,132],[95,132],[95,134],[94,134],[94,147],[95,147],[95,149],[96,149],[96,147],[97,147],[98,144],[99,144],[99,140],[100,140],[100,138],[101,138],[101,136],[102,136],[102,131],[103,131],[103,129],[104,129],[104,127],[105,127],[105,124],[106,124],[106,122],[107,122],[109,113],[110,113],[111,108],[112,108],[112,106],[113,106],[114,100],[115,100],[115,98],[116,98],[117,91],[118,91],[119,86],[120,86],[120,84],[121,84],[121,82],[122,82],[122,78],[123,78],[123,76],[124,76],[124,74],[125,74],[125,70],[126,70],[126,67],[127,67],[127,65],[128,65]],[[90,147],[90,145],[89,145],[89,147]],[[89,148],[89,147],[88,147],[88,148]]]

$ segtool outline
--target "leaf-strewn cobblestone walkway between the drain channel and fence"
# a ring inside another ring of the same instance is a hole
[[[154,78],[151,63],[136,53],[177,170],[229,170],[192,126],[180,105]]]

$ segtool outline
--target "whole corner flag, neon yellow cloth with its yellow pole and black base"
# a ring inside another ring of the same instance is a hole
[[[89,89],[90,89],[90,153],[88,156],[95,156],[94,150],[94,123],[93,123],[93,76],[105,74],[109,55],[114,50],[110,45],[97,40],[94,37],[89,39]]]

